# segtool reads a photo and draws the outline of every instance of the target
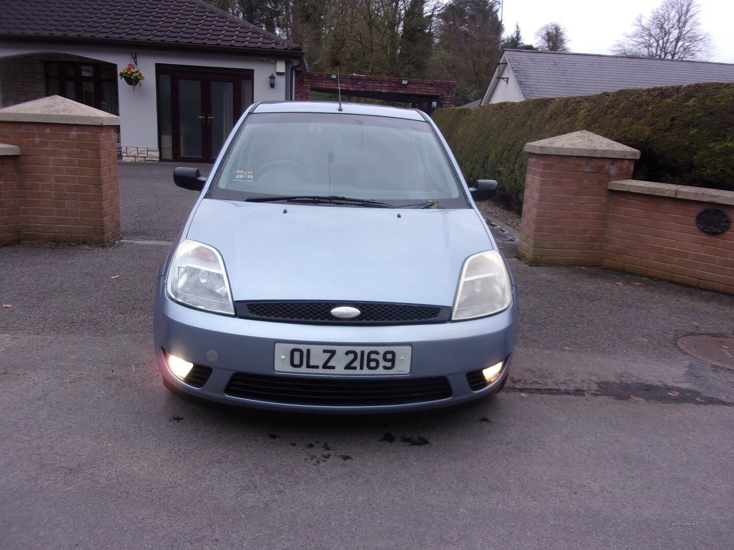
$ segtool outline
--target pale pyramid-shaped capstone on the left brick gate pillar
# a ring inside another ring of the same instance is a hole
[[[120,117],[60,95],[50,95],[48,98],[34,99],[0,109],[0,120],[91,126],[120,125]]]

